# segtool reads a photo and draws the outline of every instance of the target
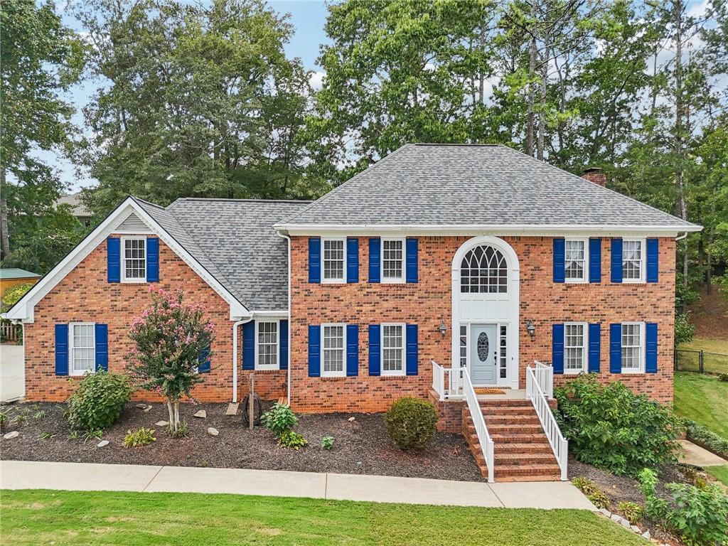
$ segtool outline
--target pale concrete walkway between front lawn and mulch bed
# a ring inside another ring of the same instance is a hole
[[[141,464],[0,461],[0,488],[232,493],[411,505],[596,510],[569,482],[482,483]]]

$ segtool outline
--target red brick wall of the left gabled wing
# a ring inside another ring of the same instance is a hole
[[[159,279],[155,287],[182,287],[189,303],[200,304],[215,325],[212,371],[195,387],[200,401],[232,399],[232,325],[229,305],[197,273],[162,241],[159,242]],[[26,400],[66,400],[80,378],[55,375],[55,323],[95,322],[108,325],[108,368],[124,371],[124,355],[132,349],[127,336],[132,318],[151,301],[149,284],[106,280],[106,242],[102,242],[36,305],[35,321],[25,325]],[[242,328],[241,328],[242,330]],[[242,362],[242,331],[238,335],[239,400],[248,392],[248,373]],[[285,371],[256,372],[256,392],[264,399],[285,395]],[[157,400],[149,392],[137,392],[135,399]]]

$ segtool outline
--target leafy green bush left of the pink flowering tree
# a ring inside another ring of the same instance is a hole
[[[99,370],[81,380],[68,397],[68,423],[77,430],[103,430],[121,416],[134,392],[129,378],[122,373]]]

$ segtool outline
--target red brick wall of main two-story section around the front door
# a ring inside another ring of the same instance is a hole
[[[456,250],[470,237],[420,237],[419,282],[372,284],[368,277],[368,244],[360,237],[360,282],[310,284],[308,238],[291,242],[291,402],[296,411],[381,411],[405,395],[426,398],[432,386],[430,360],[446,366],[451,360],[451,264]],[[550,237],[503,237],[515,250],[521,265],[521,386],[526,365],[551,361],[551,325],[570,320],[602,324],[601,373],[603,381],[620,379],[655,400],[672,400],[673,298],[675,242],[660,239],[660,282],[613,284],[609,278],[609,239],[602,240],[602,282],[554,283],[553,242]],[[533,320],[533,340],[525,321]],[[609,323],[644,320],[658,324],[658,373],[638,376],[609,373]],[[437,328],[448,325],[443,336]],[[370,323],[405,322],[419,325],[419,375],[372,377],[368,375]],[[359,375],[344,378],[308,376],[309,324],[358,324]],[[556,384],[566,377],[556,379]]]

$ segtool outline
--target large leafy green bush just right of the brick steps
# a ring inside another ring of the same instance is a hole
[[[557,418],[579,461],[618,475],[677,462],[681,420],[668,408],[635,395],[620,381],[599,384],[590,373],[554,393]]]

